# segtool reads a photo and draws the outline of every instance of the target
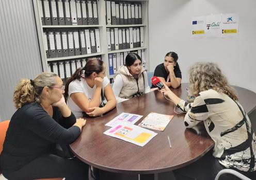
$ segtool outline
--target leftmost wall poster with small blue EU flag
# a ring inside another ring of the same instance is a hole
[[[193,37],[204,37],[205,16],[196,16],[192,18],[192,35]]]

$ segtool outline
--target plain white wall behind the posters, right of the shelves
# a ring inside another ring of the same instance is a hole
[[[255,0],[149,0],[150,71],[167,52],[179,56],[182,82],[188,67],[198,61],[217,63],[232,85],[256,92]],[[238,36],[232,39],[193,39],[191,17],[239,13]]]

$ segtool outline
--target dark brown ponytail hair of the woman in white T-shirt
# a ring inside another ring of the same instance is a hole
[[[78,69],[76,69],[75,73],[69,78],[69,80],[67,81],[66,85],[65,85],[65,100],[67,101],[68,96],[69,96],[69,84],[72,81],[78,80],[81,81],[81,78],[88,78],[91,76],[92,73],[96,73],[99,74],[103,71],[103,61],[97,58],[92,58],[89,59],[85,66],[79,67]],[[83,70],[85,71],[83,73]]]

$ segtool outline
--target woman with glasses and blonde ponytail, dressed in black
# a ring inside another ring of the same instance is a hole
[[[55,143],[68,145],[86,120],[76,119],[63,97],[63,83],[54,73],[22,79],[13,96],[18,109],[6,133],[0,166],[8,179],[66,177],[88,179],[88,165],[56,155]]]

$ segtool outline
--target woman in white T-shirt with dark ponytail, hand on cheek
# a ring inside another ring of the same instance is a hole
[[[100,116],[116,107],[117,101],[105,73],[106,65],[102,60],[90,59],[67,81],[64,95],[76,118],[86,114]]]

